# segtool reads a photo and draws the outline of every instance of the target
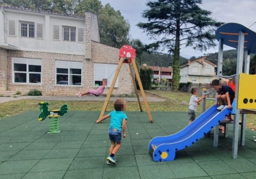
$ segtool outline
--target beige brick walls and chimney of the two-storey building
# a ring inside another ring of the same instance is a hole
[[[70,55],[60,53],[47,53],[38,51],[14,51],[0,49],[0,84],[3,90],[20,91],[22,94],[31,89],[42,91],[42,95],[73,96],[78,91],[87,91],[94,87],[94,63],[118,64],[119,49],[99,43],[97,15],[85,12],[84,19],[84,54]],[[94,41],[92,41],[94,40]],[[61,43],[61,42],[60,42]],[[23,44],[20,44],[21,46]],[[38,83],[14,83],[12,81],[12,58],[31,58],[42,60],[42,82]],[[56,85],[55,61],[81,61],[82,62],[82,86]],[[110,84],[109,84],[110,86]],[[108,92],[108,88],[104,93]],[[115,87],[113,95],[134,93],[131,72],[128,64],[122,64],[118,75],[118,87]]]

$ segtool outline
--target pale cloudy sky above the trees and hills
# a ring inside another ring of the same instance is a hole
[[[136,24],[139,22],[147,22],[145,18],[142,18],[142,12],[147,10],[146,2],[148,0],[100,0],[102,5],[110,3],[111,7],[115,10],[120,10],[130,25],[130,37],[131,39],[140,39],[142,43],[149,44],[153,41],[149,36],[138,28]],[[151,0],[154,1],[154,0]],[[229,23],[239,23],[243,26],[250,27],[252,31],[256,32],[256,0],[202,0],[202,4],[199,5],[204,10],[212,12],[210,15],[214,20]],[[218,51],[217,46],[209,49],[208,51],[194,51],[192,48],[181,47],[180,56],[190,58],[192,56],[203,56],[207,53],[214,53]],[[229,46],[224,46],[224,50],[233,49]]]

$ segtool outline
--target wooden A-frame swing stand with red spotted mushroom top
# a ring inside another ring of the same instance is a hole
[[[104,105],[103,105],[101,113],[99,115],[99,118],[101,118],[104,115],[105,111],[106,111],[106,108],[107,108],[108,103],[110,101],[110,97],[111,97],[111,94],[113,92],[115,82],[116,82],[116,79],[117,79],[118,74],[120,72],[122,64],[123,63],[128,63],[129,69],[130,69],[130,72],[131,72],[131,78],[132,78],[132,81],[133,81],[133,84],[134,84],[136,97],[137,97],[137,100],[138,100],[138,103],[139,103],[140,111],[143,112],[142,107],[141,107],[140,97],[139,97],[138,90],[137,90],[137,87],[136,87],[135,77],[133,76],[132,66],[133,66],[133,69],[134,69],[134,72],[135,72],[135,75],[136,75],[136,79],[138,81],[138,84],[139,84],[139,87],[140,87],[140,90],[141,90],[141,95],[143,97],[143,101],[144,101],[144,104],[145,104],[145,107],[146,107],[146,112],[147,112],[149,121],[150,121],[150,123],[153,123],[152,115],[150,113],[150,110],[149,110],[149,107],[148,107],[148,104],[147,104],[146,95],[145,95],[144,89],[142,87],[141,78],[140,78],[140,75],[139,75],[139,72],[138,72],[138,69],[137,69],[137,66],[136,66],[135,58],[136,58],[136,53],[135,53],[134,48],[132,48],[129,45],[124,45],[120,48],[120,50],[119,50],[119,63],[118,63],[117,69],[115,71],[115,76],[114,76],[113,81],[111,83],[110,90],[109,90],[109,92],[107,94],[107,97],[105,99]]]

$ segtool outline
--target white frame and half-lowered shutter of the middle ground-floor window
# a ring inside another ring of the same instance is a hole
[[[68,73],[57,73],[57,68],[68,69]],[[80,69],[81,74],[73,74],[71,69]],[[82,86],[82,62],[80,61],[55,61],[55,84],[56,85],[73,85],[73,86]],[[58,76],[67,76],[67,79],[58,80]],[[72,77],[77,76],[80,77],[81,81],[77,84],[73,84]],[[63,81],[63,82],[60,82]]]

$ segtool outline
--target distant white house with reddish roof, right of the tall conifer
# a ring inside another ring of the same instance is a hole
[[[188,61],[187,64],[180,67],[181,83],[210,83],[215,76],[214,63],[206,60],[206,56]]]

